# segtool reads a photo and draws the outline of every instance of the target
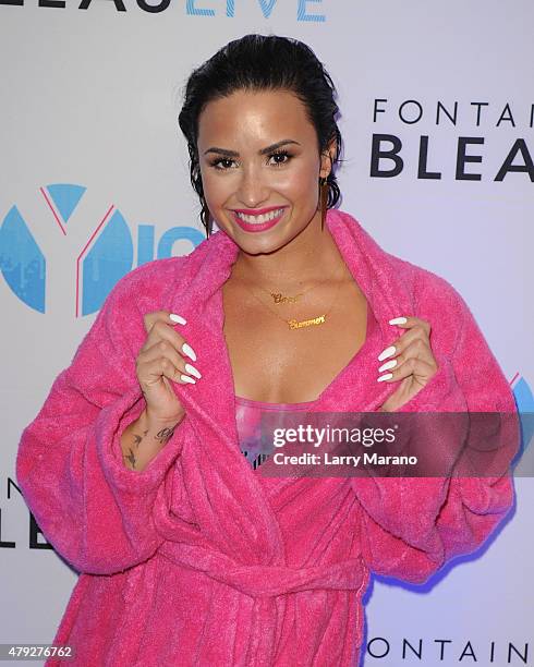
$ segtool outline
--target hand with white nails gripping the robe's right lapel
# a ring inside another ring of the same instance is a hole
[[[402,322],[405,319],[405,323]],[[430,325],[418,317],[395,318],[389,322],[406,329],[379,355],[378,381],[398,383],[381,412],[395,412],[408,403],[437,373],[438,365],[430,349]]]

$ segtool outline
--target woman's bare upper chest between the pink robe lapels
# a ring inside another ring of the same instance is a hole
[[[367,303],[353,280],[321,291],[298,307],[268,294],[223,286],[223,333],[235,395],[271,403],[315,400],[357,354],[366,339]],[[291,307],[293,305],[293,307]],[[324,324],[291,329],[288,320]]]

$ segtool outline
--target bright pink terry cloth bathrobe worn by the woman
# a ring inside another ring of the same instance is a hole
[[[316,411],[377,411],[378,354],[432,325],[438,371],[402,412],[515,412],[464,301],[444,279],[385,251],[347,213],[326,225],[378,322]],[[369,573],[426,582],[474,551],[513,502],[497,477],[263,477],[240,451],[221,286],[238,245],[222,231],[113,288],[72,364],[24,429],[16,476],[45,537],[80,579],[53,640],[75,666],[355,666]],[[120,437],[144,409],[135,359],[143,315],[166,310],[203,378],[175,384],[186,416],[142,472]],[[295,332],[298,336],[299,332]],[[430,444],[432,446],[432,444]],[[510,447],[508,460],[519,447]],[[49,659],[47,665],[60,665]]]

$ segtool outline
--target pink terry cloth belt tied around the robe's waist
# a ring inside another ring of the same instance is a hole
[[[242,565],[199,545],[170,542],[165,542],[158,554],[253,597],[274,597],[311,589],[356,590],[368,575],[361,557],[308,568]]]

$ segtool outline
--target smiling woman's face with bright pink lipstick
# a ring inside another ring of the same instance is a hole
[[[197,148],[211,216],[244,252],[276,251],[312,220],[320,231],[318,179],[331,163],[327,154],[319,158],[315,128],[295,95],[239,90],[210,101]]]

